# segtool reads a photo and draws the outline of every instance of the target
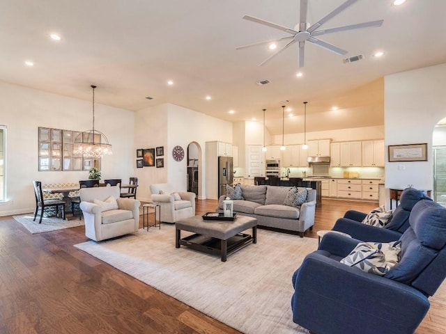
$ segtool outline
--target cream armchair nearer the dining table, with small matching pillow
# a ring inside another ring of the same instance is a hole
[[[79,190],[86,237],[100,241],[138,230],[141,202],[133,198],[120,198],[119,195],[118,186]]]

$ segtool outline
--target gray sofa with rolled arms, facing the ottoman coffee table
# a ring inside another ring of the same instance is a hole
[[[298,232],[300,237],[314,225],[316,190],[308,189],[307,202],[300,207],[283,205],[291,186],[248,186],[242,185],[243,200],[233,200],[233,211],[243,216],[257,218],[259,227],[284,232]],[[220,196],[217,211],[223,211]]]

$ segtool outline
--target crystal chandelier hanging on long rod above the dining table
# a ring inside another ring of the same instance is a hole
[[[102,132],[95,129],[95,88],[93,89],[93,129],[81,132],[75,138],[75,154],[82,154],[84,158],[102,158],[105,154],[112,154],[112,145]],[[82,138],[81,138],[82,136]]]

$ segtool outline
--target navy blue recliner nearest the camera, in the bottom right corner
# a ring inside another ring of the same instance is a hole
[[[293,321],[317,334],[413,333],[446,276],[446,208],[420,200],[409,224],[384,276],[339,262],[359,240],[325,235],[293,275]]]

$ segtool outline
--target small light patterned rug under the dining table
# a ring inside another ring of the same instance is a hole
[[[56,230],[63,230],[64,228],[74,228],[75,226],[85,225],[84,218],[79,221],[79,218],[72,218],[69,221],[62,220],[61,218],[43,218],[42,223],[39,224],[39,216],[36,217],[36,221],[33,221],[34,214],[22,214],[20,216],[13,216],[13,218],[24,225],[26,230],[29,230],[32,234],[51,232]]]

